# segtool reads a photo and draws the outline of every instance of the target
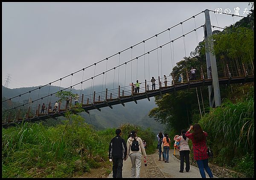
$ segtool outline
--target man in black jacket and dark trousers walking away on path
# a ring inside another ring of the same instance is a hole
[[[126,160],[127,146],[121,137],[121,129],[116,129],[116,136],[111,139],[108,157],[113,160],[113,177],[122,177],[123,160]]]

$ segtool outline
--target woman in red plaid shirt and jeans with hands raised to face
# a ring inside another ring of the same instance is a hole
[[[190,131],[193,130],[193,133]],[[209,177],[213,177],[212,171],[208,166],[208,154],[207,154],[207,145],[206,138],[208,136],[207,132],[204,132],[200,125],[194,124],[191,125],[189,130],[186,132],[185,136],[192,140],[193,143],[193,155],[194,160],[196,160],[199,168],[201,177],[205,178],[205,171]]]

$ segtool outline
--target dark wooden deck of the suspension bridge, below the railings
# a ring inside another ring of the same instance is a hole
[[[232,78],[219,78],[219,84],[234,84],[234,83],[247,83],[247,82],[253,82],[254,81],[254,75],[248,75],[246,77],[232,77]],[[178,90],[184,90],[194,87],[200,87],[200,86],[210,86],[212,85],[212,79],[205,79],[205,80],[194,80],[189,81],[186,83],[177,83],[175,86],[167,86],[167,87],[161,87],[157,90],[148,90],[146,92],[141,93],[134,93],[134,96],[120,96],[119,98],[115,99],[107,99],[107,101],[99,101],[95,102],[94,104],[83,104],[82,108],[85,112],[89,113],[89,110],[97,109],[100,111],[100,108],[102,107],[110,107],[113,108],[113,105],[122,104],[125,106],[125,103],[134,101],[137,104],[137,101],[140,99],[148,99],[150,101],[150,97],[162,95],[165,93],[175,93]],[[2,122],[2,127],[7,128],[9,126],[16,126],[17,124],[20,124],[22,122],[36,122],[46,119],[56,119],[56,117],[64,116],[64,113],[67,112],[66,109],[61,109],[59,111],[49,112],[45,114],[39,114],[38,116],[29,116],[28,118],[19,118],[18,120],[15,120],[13,122]]]

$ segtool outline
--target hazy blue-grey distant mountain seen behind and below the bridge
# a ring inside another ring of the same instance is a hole
[[[2,86],[2,98],[9,99],[14,96],[18,96],[22,93],[29,92],[29,90],[33,90],[37,87],[23,87],[23,88],[17,88],[17,89],[9,89]],[[48,94],[55,93],[58,90],[64,89],[63,87],[56,87],[56,86],[46,86],[41,88],[40,92],[39,90],[32,91],[31,93],[27,93],[25,95],[22,95],[20,97],[17,97],[15,99],[12,99],[12,102],[19,102],[23,104],[26,102],[29,98],[32,100],[47,96]],[[95,86],[94,91],[101,92],[102,86]],[[67,89],[70,90],[70,89]],[[84,95],[90,94],[90,88],[82,90],[76,90],[72,89],[72,93],[83,93]],[[43,100],[39,100],[35,102],[35,106],[38,104],[55,102],[57,100],[57,97],[54,95],[51,97],[44,98]],[[154,121],[154,119],[148,117],[149,111],[156,107],[154,103],[154,98],[150,99],[149,102],[148,99],[142,99],[138,100],[138,104],[135,104],[135,102],[128,102],[125,103],[125,107],[122,105],[114,105],[113,109],[109,107],[103,107],[101,108],[101,111],[99,110],[90,110],[90,115],[88,113],[83,112],[81,115],[84,117],[85,122],[88,124],[94,125],[97,129],[105,129],[105,128],[117,128],[119,125],[130,122],[132,124],[140,125],[143,128],[151,128],[151,130],[155,133],[158,133],[159,131],[163,131],[163,125],[160,123]],[[17,103],[12,103],[12,106],[17,106]],[[7,107],[8,103],[3,102],[2,103],[2,110]]]

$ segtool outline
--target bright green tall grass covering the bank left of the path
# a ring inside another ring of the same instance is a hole
[[[130,126],[122,128],[125,132]],[[150,147],[154,133],[138,128]],[[2,128],[2,177],[73,177],[77,160],[81,172],[110,164],[108,146],[115,129],[96,131],[77,115],[56,127],[24,123]]]

